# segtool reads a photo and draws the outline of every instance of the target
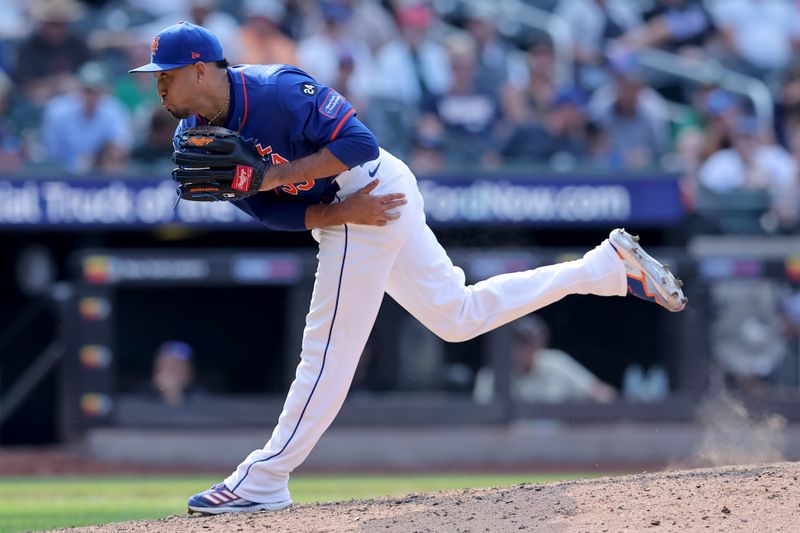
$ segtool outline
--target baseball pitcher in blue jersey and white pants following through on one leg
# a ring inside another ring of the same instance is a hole
[[[182,22],[152,42],[175,132],[181,198],[233,201],[275,230],[312,230],[319,265],[300,364],[266,445],[189,499],[218,514],[291,505],[289,475],[333,421],[384,293],[446,341],[481,335],[569,294],[633,294],[681,311],[680,280],[615,229],[576,261],[466,285],[425,222],[409,168],[381,149],[332,87],[289,65],[229,66],[211,32]]]

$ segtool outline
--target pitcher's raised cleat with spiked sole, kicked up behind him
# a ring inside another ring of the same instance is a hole
[[[683,295],[683,282],[670,272],[669,265],[653,259],[638,244],[639,237],[624,229],[615,229],[608,240],[625,264],[628,276],[628,294],[654,302],[677,313],[683,311],[688,299]]]

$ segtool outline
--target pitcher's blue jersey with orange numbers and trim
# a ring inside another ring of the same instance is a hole
[[[378,143],[356,118],[352,105],[330,87],[289,65],[236,65],[227,69],[231,102],[225,127],[251,140],[274,165],[294,161],[327,147],[349,168],[378,157]],[[188,128],[207,125],[199,115],[178,124],[177,138]],[[266,226],[305,230],[311,204],[330,202],[335,176],[283,185],[233,204]]]

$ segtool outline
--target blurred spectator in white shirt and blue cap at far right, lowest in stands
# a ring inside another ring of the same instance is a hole
[[[701,185],[725,193],[742,189],[770,191],[777,198],[797,186],[797,165],[753,116],[736,121],[731,148],[720,150],[699,170]]]

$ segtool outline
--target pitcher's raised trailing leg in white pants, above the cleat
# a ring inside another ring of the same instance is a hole
[[[494,276],[466,286],[464,272],[420,216],[400,251],[387,293],[450,342],[471,339],[569,294],[625,296],[625,266],[608,240],[581,259]]]

